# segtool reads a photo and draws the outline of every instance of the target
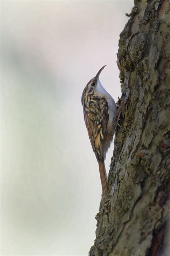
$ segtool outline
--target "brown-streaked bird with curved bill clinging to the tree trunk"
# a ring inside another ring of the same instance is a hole
[[[104,161],[117,127],[117,106],[99,80],[105,66],[87,83],[81,96],[85,125],[99,164],[102,198],[106,197],[108,184]]]

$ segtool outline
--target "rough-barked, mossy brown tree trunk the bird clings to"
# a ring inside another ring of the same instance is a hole
[[[119,40],[125,104],[90,256],[156,256],[167,250],[170,9],[168,0],[135,0],[134,5]]]

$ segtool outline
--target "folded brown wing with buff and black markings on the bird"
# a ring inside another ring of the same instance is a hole
[[[103,162],[103,149],[109,120],[109,105],[105,98],[92,101],[86,116],[86,127],[88,129],[91,146],[96,155],[98,163]]]

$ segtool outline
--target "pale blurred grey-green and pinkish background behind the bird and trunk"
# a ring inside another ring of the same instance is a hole
[[[1,1],[1,255],[88,255],[101,199],[81,106],[117,101],[119,34],[133,1]],[[107,172],[113,144],[106,159]]]

